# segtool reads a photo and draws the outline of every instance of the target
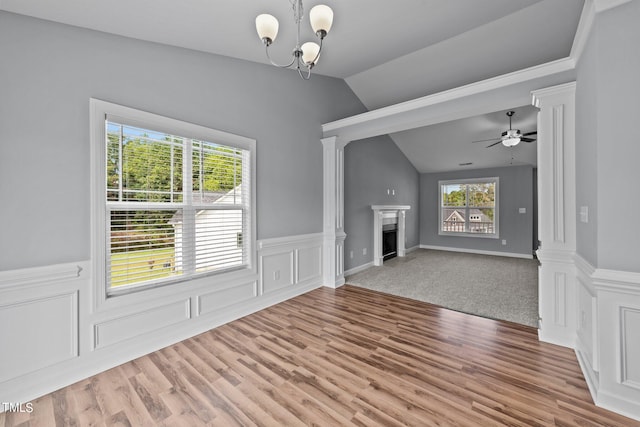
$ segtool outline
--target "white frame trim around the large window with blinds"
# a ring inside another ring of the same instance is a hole
[[[134,108],[113,104],[98,99],[90,100],[90,132],[91,132],[91,265],[94,308],[108,308],[115,304],[114,300],[143,301],[149,293],[157,296],[172,294],[171,288],[184,292],[189,286],[211,288],[212,283],[229,283],[234,280],[248,280],[257,275],[256,267],[256,141],[244,136],[234,135],[207,128],[200,125],[171,119],[161,115],[148,113]],[[131,287],[122,292],[109,292],[106,278],[107,237],[106,237],[106,119],[120,121],[127,125],[179,135],[201,141],[212,141],[223,145],[247,150],[250,157],[249,182],[249,236],[243,235],[243,243],[247,245],[247,267],[231,271],[199,274],[196,277],[179,278],[158,286]],[[214,280],[212,279],[214,277]],[[206,282],[206,283],[205,283]],[[214,285],[215,286],[215,285]],[[136,295],[137,294],[137,295]],[[140,295],[142,294],[142,295]],[[120,301],[118,301],[120,303]]]

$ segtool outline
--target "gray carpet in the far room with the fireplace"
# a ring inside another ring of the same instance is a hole
[[[351,285],[538,326],[538,262],[419,249],[346,277]]]

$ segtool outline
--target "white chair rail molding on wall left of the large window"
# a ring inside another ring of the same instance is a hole
[[[60,280],[76,279],[87,271],[87,261],[0,271],[0,289],[25,288]]]

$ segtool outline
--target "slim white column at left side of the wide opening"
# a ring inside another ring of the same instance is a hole
[[[348,142],[348,141],[347,141]],[[344,284],[344,147],[346,142],[332,136],[323,146],[323,234],[322,276],[324,286]]]

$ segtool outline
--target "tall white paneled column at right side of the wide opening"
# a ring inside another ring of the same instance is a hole
[[[532,92],[538,113],[538,297],[541,341],[576,339],[575,82]]]

